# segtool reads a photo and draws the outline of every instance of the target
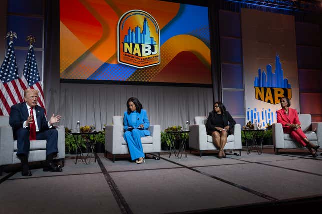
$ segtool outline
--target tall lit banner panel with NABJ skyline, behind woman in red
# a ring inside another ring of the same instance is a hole
[[[241,10],[246,122],[276,123],[282,96],[300,112],[294,16]]]

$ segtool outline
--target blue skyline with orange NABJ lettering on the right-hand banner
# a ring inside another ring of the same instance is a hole
[[[280,57],[275,56],[275,73],[272,73],[272,65],[266,65],[265,71],[258,69],[258,76],[254,79],[255,99],[271,104],[280,103],[281,97],[292,98],[291,84],[287,78],[283,78],[283,69]]]

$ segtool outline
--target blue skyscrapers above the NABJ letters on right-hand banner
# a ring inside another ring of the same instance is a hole
[[[254,87],[268,88],[291,88],[287,78],[283,78],[283,69],[280,62],[280,57],[275,56],[275,73],[272,73],[272,65],[266,65],[265,70],[258,69],[258,76],[254,79]]]

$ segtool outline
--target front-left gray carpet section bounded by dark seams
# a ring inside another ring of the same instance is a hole
[[[102,174],[8,180],[1,214],[121,213]]]

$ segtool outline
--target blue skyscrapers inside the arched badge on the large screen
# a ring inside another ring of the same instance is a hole
[[[156,41],[153,37],[150,37],[150,28],[148,26],[148,20],[144,18],[143,21],[143,30],[136,26],[135,29],[131,30],[131,27],[127,30],[127,35],[124,36],[123,42],[125,43],[138,43],[138,44],[156,44]]]

